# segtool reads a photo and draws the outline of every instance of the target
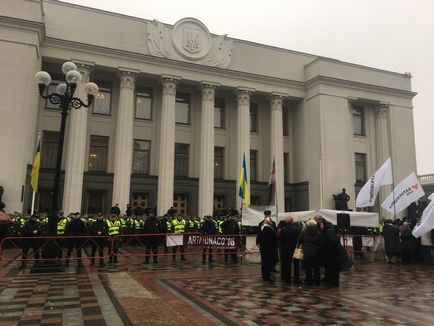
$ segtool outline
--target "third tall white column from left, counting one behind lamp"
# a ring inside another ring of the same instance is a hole
[[[179,77],[162,76],[160,143],[158,164],[158,215],[167,213],[173,205],[173,175],[175,168],[175,100]]]

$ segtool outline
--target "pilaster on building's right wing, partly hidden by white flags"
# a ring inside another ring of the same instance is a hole
[[[389,141],[389,107],[381,105],[376,108],[376,134],[377,134],[377,166],[381,166],[387,158],[390,157],[390,141]],[[392,163],[393,168],[393,163]],[[379,192],[380,217],[392,217],[385,209],[381,208],[383,201],[392,192],[392,186],[383,186]]]

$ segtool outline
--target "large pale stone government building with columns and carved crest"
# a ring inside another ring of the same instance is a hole
[[[36,208],[50,206],[60,110],[39,97],[34,75],[49,72],[53,92],[65,61],[82,75],[76,96],[84,99],[88,81],[99,86],[90,108],[68,116],[57,194],[66,213],[116,203],[199,216],[240,207],[243,155],[258,205],[269,203],[275,160],[279,211],[333,208],[342,188],[354,209],[388,157],[395,180],[416,170],[409,74],[215,35],[195,18],[168,25],[54,0],[2,0],[7,211],[30,206],[38,133]]]

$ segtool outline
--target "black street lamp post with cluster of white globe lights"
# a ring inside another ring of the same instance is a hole
[[[74,92],[77,89],[77,84],[81,81],[81,74],[77,71],[77,67],[73,62],[65,62],[62,65],[62,72],[65,74],[66,83],[57,85],[56,92],[45,95],[45,89],[51,82],[51,76],[45,71],[36,73],[35,78],[39,86],[39,95],[50,101],[54,105],[59,105],[61,112],[61,123],[59,132],[59,147],[57,150],[56,170],[54,174],[54,187],[53,198],[51,202],[51,211],[48,216],[47,235],[57,235],[57,220],[58,220],[58,197],[59,197],[59,183],[60,183],[60,170],[62,166],[63,154],[63,140],[65,137],[65,126],[68,111],[71,109],[80,109],[82,107],[89,107],[92,105],[93,100],[98,93],[98,86],[95,83],[87,83],[84,90],[87,93],[87,103],[84,103],[78,97],[74,97]],[[57,249],[55,246],[46,246],[46,250],[42,252],[43,258],[55,258],[57,256]]]

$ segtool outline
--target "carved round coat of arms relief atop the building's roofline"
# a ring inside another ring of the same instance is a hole
[[[147,23],[147,43],[153,56],[192,61],[227,68],[233,41],[225,35],[211,35],[195,18],[184,18],[169,26],[158,21]]]

